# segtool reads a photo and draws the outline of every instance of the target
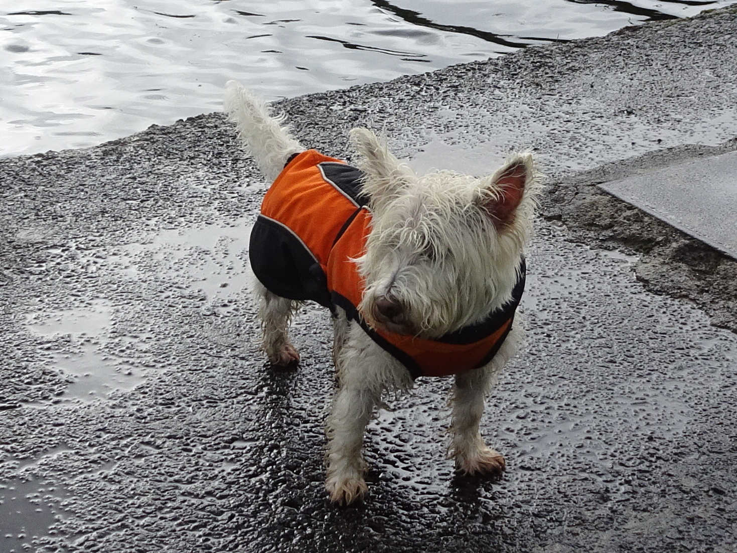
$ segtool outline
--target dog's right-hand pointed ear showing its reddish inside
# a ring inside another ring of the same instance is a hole
[[[517,207],[525,195],[525,187],[533,175],[532,156],[523,153],[513,156],[489,177],[479,202],[497,228],[514,222]]]

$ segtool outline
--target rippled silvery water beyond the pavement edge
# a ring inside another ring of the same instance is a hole
[[[219,110],[229,78],[290,97],[735,1],[8,1],[0,155],[95,145]]]

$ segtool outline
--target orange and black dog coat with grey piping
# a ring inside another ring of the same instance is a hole
[[[481,323],[434,340],[371,328],[356,307],[363,282],[352,261],[363,254],[371,229],[362,180],[357,168],[315,150],[287,161],[266,192],[251,232],[249,257],[256,277],[278,296],[310,299],[333,313],[342,308],[413,378],[487,364],[511,330],[525,287],[525,260],[520,260],[511,301]]]

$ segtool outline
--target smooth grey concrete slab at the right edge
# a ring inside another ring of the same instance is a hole
[[[600,186],[737,259],[737,152],[643,171]]]

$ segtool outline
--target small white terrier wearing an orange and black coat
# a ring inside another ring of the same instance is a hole
[[[461,473],[499,476],[479,433],[484,397],[523,340],[512,324],[525,285],[524,248],[539,189],[532,156],[489,176],[416,175],[364,128],[351,131],[360,168],[305,150],[238,83],[226,111],[273,184],[249,257],[271,364],[296,363],[287,336],[299,302],[332,313],[338,390],[327,419],[326,489],[349,504],[366,493],[361,452],[383,397],[419,376],[454,375],[450,451]]]

